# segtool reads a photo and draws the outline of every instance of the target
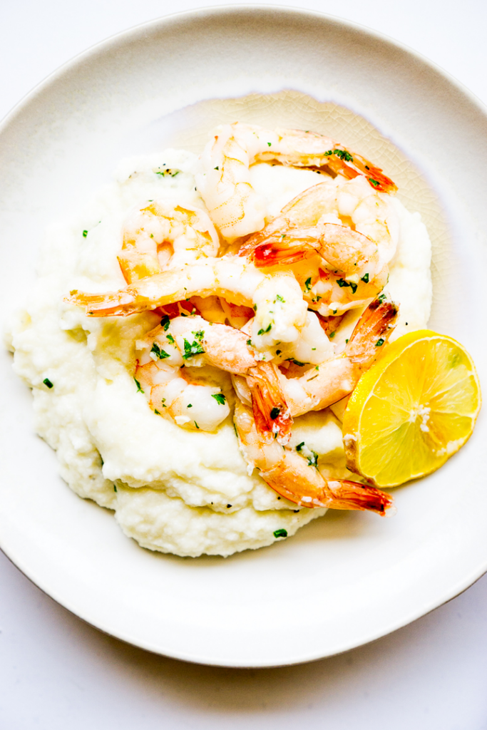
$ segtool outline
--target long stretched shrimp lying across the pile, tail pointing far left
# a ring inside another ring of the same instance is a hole
[[[293,347],[298,347],[308,322],[299,284],[291,273],[264,274],[242,258],[208,258],[201,264],[187,264],[145,277],[115,292],[72,291],[66,301],[85,307],[93,317],[107,317],[154,310],[191,296],[212,295],[253,307],[251,339],[261,359],[275,356],[279,343],[288,347],[289,357],[293,356]]]

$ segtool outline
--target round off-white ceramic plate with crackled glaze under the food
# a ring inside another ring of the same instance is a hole
[[[469,348],[485,382],[486,113],[404,47],[299,10],[156,20],[21,102],[0,134],[1,311],[31,284],[45,225],[84,204],[119,158],[199,150],[214,123],[236,118],[329,131],[383,164],[434,239],[431,325]],[[487,569],[483,414],[440,472],[396,490],[393,519],[329,512],[272,548],[181,559],[137,547],[69,491],[6,353],[1,366],[1,547],[58,602],[135,645],[226,666],[306,661],[404,626]]]

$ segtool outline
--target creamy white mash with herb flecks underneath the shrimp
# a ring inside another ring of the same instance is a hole
[[[52,226],[31,301],[9,340],[15,371],[33,391],[35,427],[57,451],[61,476],[77,494],[115,510],[123,531],[145,548],[229,556],[292,535],[326,510],[298,509],[269,488],[245,463],[231,415],[205,433],[181,429],[150,410],[134,387],[135,343],[160,318],[151,312],[87,318],[63,302],[72,289],[113,291],[125,284],[117,254],[123,220],[134,205],[164,197],[204,208],[194,163],[194,155],[181,150],[123,161],[115,182],[88,210]],[[274,215],[317,183],[310,170],[269,164],[254,166],[252,176]],[[398,337],[429,318],[431,247],[420,216],[398,200],[394,206],[400,231],[388,291],[401,304]],[[355,321],[351,312],[337,334],[338,348]],[[224,373],[221,388],[231,405]],[[323,475],[349,474],[340,420],[331,410],[296,418],[292,439],[318,454]]]

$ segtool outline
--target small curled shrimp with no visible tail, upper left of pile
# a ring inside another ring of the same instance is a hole
[[[134,210],[123,226],[118,255],[126,283],[131,284],[166,268],[200,256],[215,256],[220,242],[207,213],[199,208],[150,201]]]

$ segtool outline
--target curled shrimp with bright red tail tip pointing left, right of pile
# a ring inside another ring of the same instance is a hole
[[[321,183],[286,205],[239,249],[259,268],[295,264],[304,299],[323,316],[364,307],[382,291],[399,237],[387,196],[363,177]]]

